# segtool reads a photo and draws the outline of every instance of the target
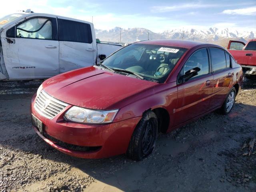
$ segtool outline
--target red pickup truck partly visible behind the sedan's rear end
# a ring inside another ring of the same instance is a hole
[[[256,39],[246,44],[241,41],[229,41],[228,51],[243,68],[244,74],[256,75]]]

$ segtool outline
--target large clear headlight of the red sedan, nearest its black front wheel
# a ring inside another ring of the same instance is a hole
[[[91,110],[91,109],[73,106],[66,112],[66,114],[64,115],[64,118],[72,122],[102,124],[102,123],[112,122],[117,112],[118,112],[118,109],[105,111],[105,110]]]

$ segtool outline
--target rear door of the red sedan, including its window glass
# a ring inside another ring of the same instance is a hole
[[[212,73],[214,78],[211,108],[221,106],[230,90],[234,70],[230,65],[230,55],[219,48],[210,48]]]

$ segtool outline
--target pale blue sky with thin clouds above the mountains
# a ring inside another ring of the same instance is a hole
[[[96,29],[186,28],[256,30],[256,0],[2,0],[0,18],[26,10],[92,22]]]

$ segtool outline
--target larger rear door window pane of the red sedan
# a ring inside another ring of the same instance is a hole
[[[226,68],[225,52],[218,48],[210,48],[213,71]]]

